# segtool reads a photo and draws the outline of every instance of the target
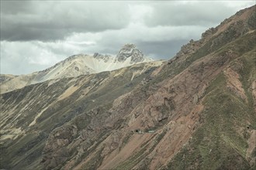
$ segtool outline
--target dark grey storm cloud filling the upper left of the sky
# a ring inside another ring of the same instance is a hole
[[[58,40],[74,32],[122,29],[129,19],[127,8],[119,3],[1,1],[1,39]]]

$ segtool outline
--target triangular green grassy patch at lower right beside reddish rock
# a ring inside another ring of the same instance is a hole
[[[249,168],[247,138],[237,131],[239,127],[246,128],[247,121],[253,124],[256,115],[250,106],[226,89],[225,83],[220,73],[207,89],[202,127],[195,132],[192,142],[170,162],[169,168]]]

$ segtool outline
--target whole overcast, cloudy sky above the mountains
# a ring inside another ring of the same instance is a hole
[[[133,43],[153,59],[171,59],[190,39],[218,26],[243,1],[0,0],[1,73],[26,74],[74,54],[116,56]]]

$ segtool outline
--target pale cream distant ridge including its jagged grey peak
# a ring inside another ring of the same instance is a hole
[[[47,80],[111,71],[150,61],[153,61],[153,59],[144,56],[135,45],[126,44],[116,56],[99,53],[95,53],[93,56],[78,54],[64,59],[47,70],[28,75],[12,76],[12,79],[10,79],[11,76],[9,76],[9,79],[5,79],[8,75],[1,75],[0,91],[6,93],[29,84],[42,83]]]

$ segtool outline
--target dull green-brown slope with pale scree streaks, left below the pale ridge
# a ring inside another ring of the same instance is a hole
[[[132,67],[132,69],[130,67]],[[136,76],[133,81],[130,81],[133,71],[143,70],[144,65],[141,64],[130,67],[125,69],[123,74],[112,77],[106,83],[102,83],[102,85],[99,85],[99,83],[101,83],[101,80],[104,80],[109,76],[109,72],[95,74],[92,78],[95,79],[95,83],[97,85],[92,88],[92,90],[85,95],[85,97],[82,97],[81,100],[77,99],[81,96],[81,93],[83,93],[82,90],[84,90],[86,87],[93,86],[90,81],[85,82],[70,97],[58,101],[53,106],[49,107],[36,120],[36,125],[31,127],[26,134],[16,138],[14,141],[9,140],[9,142],[6,142],[5,145],[0,145],[0,151],[2,155],[4,155],[0,158],[0,168],[41,168],[37,165],[39,165],[41,160],[43,147],[50,131],[52,131],[54,128],[60,127],[72,119],[74,119],[74,121],[78,120],[75,119],[76,116],[86,114],[88,110],[92,110],[92,108],[97,108],[99,106],[112,106],[113,100],[123,93],[127,93],[132,90],[137,86],[138,83],[140,83],[141,80],[144,79],[144,77],[150,75],[150,73],[155,69],[154,66],[150,67],[150,72],[142,73],[141,75]],[[118,71],[119,70],[116,70],[115,73]],[[79,83],[81,81],[80,79],[83,78],[84,76],[80,76],[74,79],[78,79],[77,81]],[[12,103],[9,103],[8,100],[12,99],[16,102],[15,104],[18,105],[16,112],[19,114],[19,110],[22,109],[22,107],[24,107],[28,101],[25,100],[24,97],[29,100],[36,99],[35,103],[38,102],[37,105],[33,105],[31,110],[26,110],[26,116],[23,116],[22,119],[19,120],[18,125],[22,126],[22,128],[27,128],[28,124],[33,121],[34,114],[40,110],[41,105],[54,102],[57,100],[59,94],[63,93],[68,86],[72,85],[67,85],[69,80],[71,80],[71,78],[61,80],[54,83],[50,87],[47,87],[47,82],[33,84],[28,87],[24,87],[21,90],[15,90],[2,94],[2,104],[5,104],[5,109],[9,110],[9,108],[13,107],[13,105]],[[38,96],[42,91],[44,93],[42,93],[40,97],[36,97],[36,95]],[[55,93],[57,95],[51,97],[51,93]],[[18,96],[18,98],[16,98],[16,96]],[[49,100],[47,97],[50,97],[51,100]],[[46,98],[46,100],[44,100],[44,98]],[[96,100],[96,102],[92,102],[92,100]],[[87,121],[90,121],[90,119]],[[85,121],[83,121],[82,124],[85,125]],[[17,128],[19,128],[18,125]],[[78,128],[81,127],[78,126]],[[35,131],[37,131],[37,133],[35,133]]]

